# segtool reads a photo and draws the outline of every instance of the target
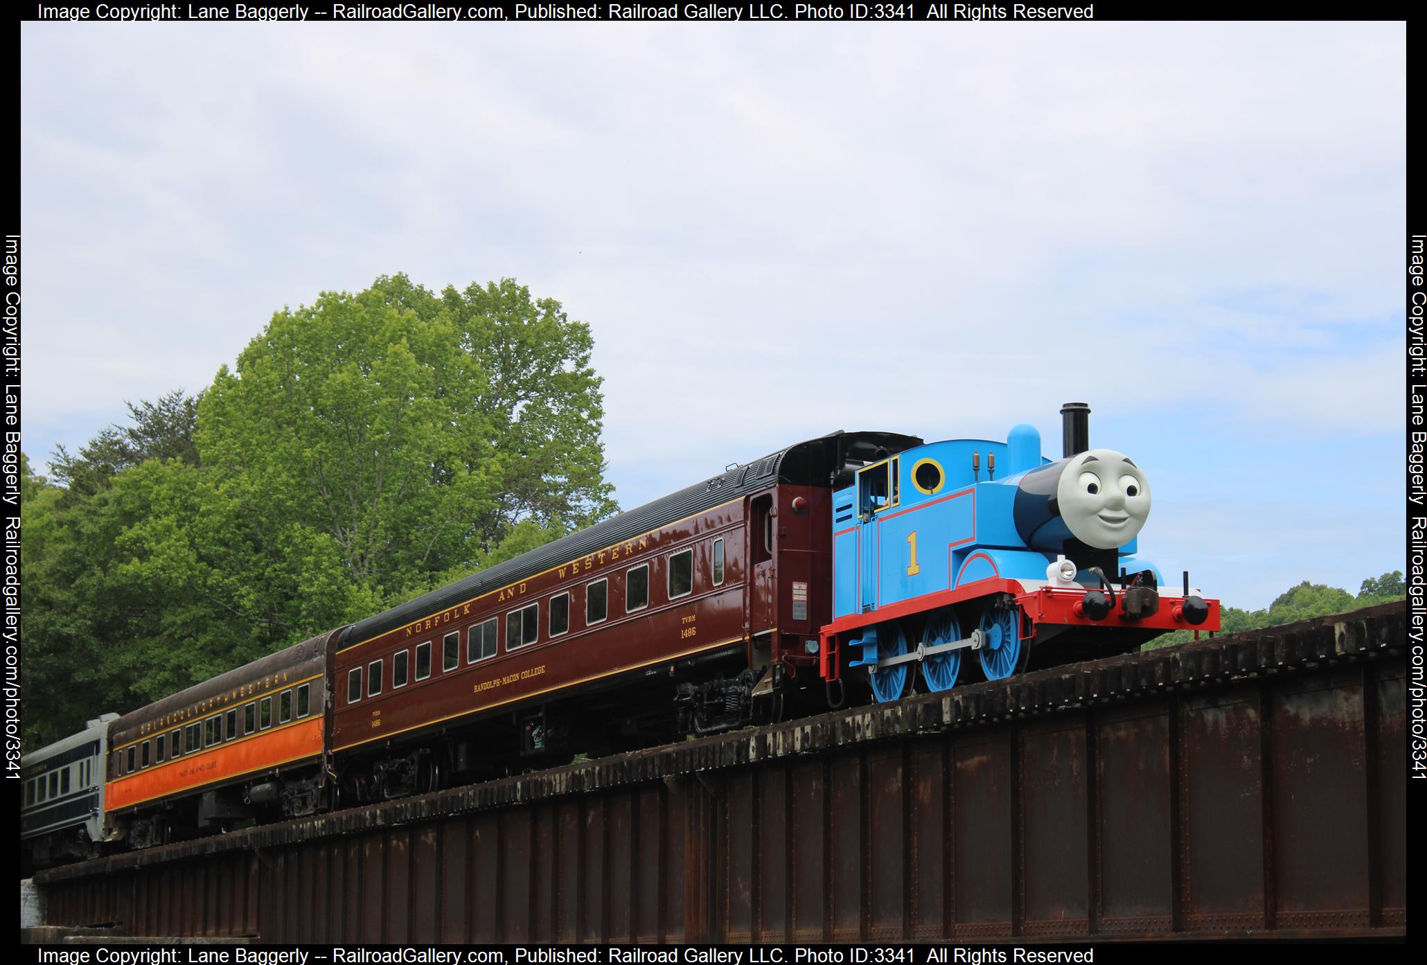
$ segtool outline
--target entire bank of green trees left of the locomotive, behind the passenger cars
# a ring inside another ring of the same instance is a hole
[[[511,280],[284,308],[198,395],[21,461],[27,747],[615,510],[584,323]]]

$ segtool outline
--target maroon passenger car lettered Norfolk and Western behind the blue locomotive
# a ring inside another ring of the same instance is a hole
[[[398,797],[778,714],[818,682],[832,488],[918,444],[801,443],[348,627],[328,744],[345,791]]]

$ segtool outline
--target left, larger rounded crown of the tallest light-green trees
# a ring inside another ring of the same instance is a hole
[[[204,460],[254,525],[325,532],[382,598],[459,560],[501,480],[485,375],[411,300],[398,276],[277,313],[198,411]]]

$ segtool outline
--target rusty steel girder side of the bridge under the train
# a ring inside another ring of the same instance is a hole
[[[265,942],[1406,934],[1406,607],[41,872]]]

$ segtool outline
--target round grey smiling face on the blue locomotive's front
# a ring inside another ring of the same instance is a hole
[[[1076,540],[1097,550],[1114,550],[1144,525],[1150,485],[1123,453],[1090,450],[1070,458],[1060,474],[1056,501]]]

